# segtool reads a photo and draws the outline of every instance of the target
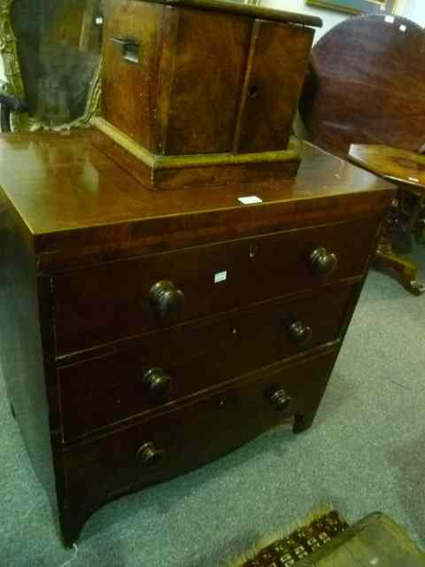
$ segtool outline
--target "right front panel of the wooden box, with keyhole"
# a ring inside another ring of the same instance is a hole
[[[308,27],[254,24],[233,151],[288,147],[312,42]]]

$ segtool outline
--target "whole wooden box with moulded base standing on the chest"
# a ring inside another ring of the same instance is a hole
[[[294,177],[308,22],[321,23],[243,3],[107,0],[93,143],[154,190]]]

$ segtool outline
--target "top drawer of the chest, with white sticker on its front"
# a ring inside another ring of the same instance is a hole
[[[65,272],[55,276],[57,353],[360,276],[376,227],[359,219]]]

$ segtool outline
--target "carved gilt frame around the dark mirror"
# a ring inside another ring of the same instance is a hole
[[[11,12],[14,0],[0,0],[0,54],[4,62],[5,92],[25,98],[25,88],[19,67],[17,40],[13,33]],[[27,114],[12,114],[13,131],[34,131],[37,129],[64,130],[69,128],[89,128],[92,116],[97,114],[102,90],[102,58],[99,57],[97,71],[89,87],[89,96],[82,116],[68,122],[51,126],[30,118]]]

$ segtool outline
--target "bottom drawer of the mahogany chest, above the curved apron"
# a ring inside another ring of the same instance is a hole
[[[336,353],[279,364],[232,388],[63,453],[66,500],[103,501],[172,478],[226,454],[286,420],[313,417]]]

